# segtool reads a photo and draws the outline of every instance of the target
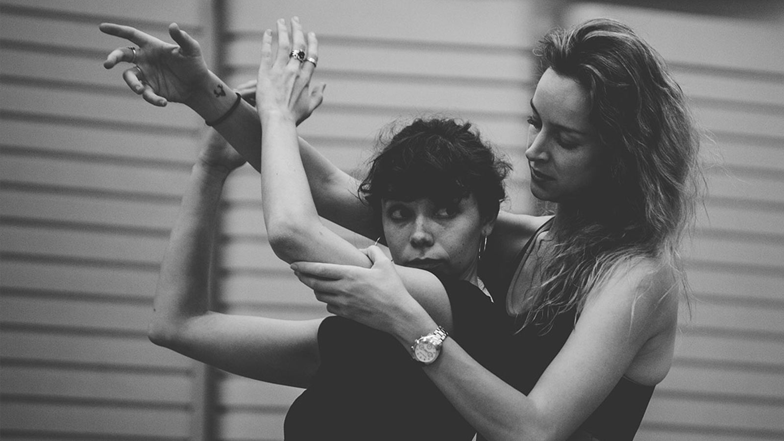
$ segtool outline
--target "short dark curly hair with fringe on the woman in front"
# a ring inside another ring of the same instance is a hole
[[[388,131],[394,132],[394,125]],[[446,204],[472,194],[484,221],[498,216],[506,199],[503,180],[511,166],[481,140],[470,122],[417,118],[388,141],[383,139],[379,137],[383,148],[358,191],[377,221],[382,199],[427,198]]]

